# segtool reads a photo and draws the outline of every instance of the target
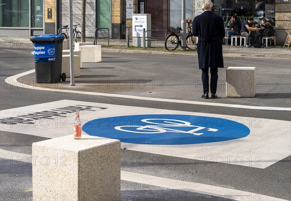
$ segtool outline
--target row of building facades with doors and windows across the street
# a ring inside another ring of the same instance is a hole
[[[186,18],[201,14],[202,0],[185,0]],[[73,0],[73,24],[81,23],[81,0]],[[110,38],[122,39],[132,26],[132,14],[151,14],[151,29],[167,31],[181,24],[182,0],[86,0],[86,37],[96,27],[108,28]],[[248,17],[267,18],[276,28],[276,42],[282,45],[291,27],[291,0],[213,0],[214,12],[227,24],[232,15],[243,22]],[[0,0],[1,35],[57,33],[68,25],[68,0]],[[81,30],[81,26],[79,27]],[[102,32],[102,31],[101,31]],[[102,33],[101,33],[102,34]],[[162,32],[152,33],[162,37]]]

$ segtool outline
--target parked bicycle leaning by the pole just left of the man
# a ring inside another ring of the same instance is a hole
[[[186,35],[186,47],[188,49],[196,49],[196,36],[192,34],[192,27],[188,25],[187,30],[189,30],[189,32]],[[167,50],[175,50],[178,46],[182,46],[181,31],[181,27],[177,27],[177,29],[175,27],[168,27],[169,35],[165,41]]]

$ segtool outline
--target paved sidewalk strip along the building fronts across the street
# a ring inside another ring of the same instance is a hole
[[[0,36],[0,48],[11,49],[29,49],[33,48],[31,37],[27,36]],[[92,38],[87,38],[86,42],[92,42]],[[197,56],[196,50],[181,50],[178,47],[175,51],[168,51],[164,47],[164,41],[152,42],[152,47],[145,50],[142,47],[127,47],[127,41],[111,39],[110,45],[107,46],[107,39],[99,39],[97,45],[102,46],[102,52],[112,53],[133,53],[133,54],[162,54],[162,55],[193,55]],[[291,48],[283,49],[283,46],[268,46],[263,48],[245,47],[245,46],[223,46],[224,57],[231,58],[266,58],[266,59],[291,59]]]

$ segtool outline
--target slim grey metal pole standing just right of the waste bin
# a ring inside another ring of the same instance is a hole
[[[73,43],[73,0],[69,0],[69,31],[70,31],[70,78],[71,86],[75,86],[74,82],[74,43]]]

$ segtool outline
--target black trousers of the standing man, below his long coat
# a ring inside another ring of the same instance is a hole
[[[202,85],[203,85],[203,94],[209,93],[209,68],[202,68]],[[211,79],[210,79],[210,92],[211,93],[216,93],[217,89],[217,80],[218,80],[218,68],[210,68],[210,74],[211,74]]]

